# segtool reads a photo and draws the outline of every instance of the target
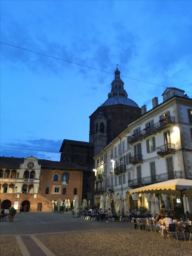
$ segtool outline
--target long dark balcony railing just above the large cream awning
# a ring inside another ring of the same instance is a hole
[[[157,183],[161,181],[168,181],[168,180],[179,179],[179,178],[182,178],[181,171],[165,172],[165,173],[156,174],[153,176],[145,176],[137,179],[132,179],[128,181],[128,186],[146,185],[150,183]]]

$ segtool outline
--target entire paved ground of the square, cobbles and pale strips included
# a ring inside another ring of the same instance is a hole
[[[4,256],[192,255],[192,243],[132,228],[129,222],[91,222],[70,213],[17,213],[12,223],[0,223],[0,252]]]

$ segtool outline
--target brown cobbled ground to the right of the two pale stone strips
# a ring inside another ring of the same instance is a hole
[[[101,230],[36,235],[57,256],[191,256],[192,243],[138,230]]]

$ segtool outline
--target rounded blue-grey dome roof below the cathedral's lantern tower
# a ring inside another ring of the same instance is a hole
[[[112,105],[117,105],[117,104],[122,104],[122,105],[127,105],[130,107],[134,107],[134,108],[139,108],[137,103],[134,102],[132,99],[128,99],[128,98],[121,97],[121,96],[115,96],[115,97],[111,97],[111,98],[107,99],[107,101],[105,101],[101,105],[101,107],[107,107],[107,106],[112,106]]]

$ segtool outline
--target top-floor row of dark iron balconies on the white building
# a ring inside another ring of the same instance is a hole
[[[137,142],[138,140],[142,140],[143,138],[146,138],[147,136],[150,136],[151,134],[156,134],[157,131],[161,131],[162,129],[165,129],[171,124],[175,123],[175,117],[174,116],[167,116],[159,122],[151,125],[150,127],[145,127],[145,129],[138,131],[137,133],[133,134],[132,136],[128,137],[128,142],[130,144],[133,144],[134,142]]]

